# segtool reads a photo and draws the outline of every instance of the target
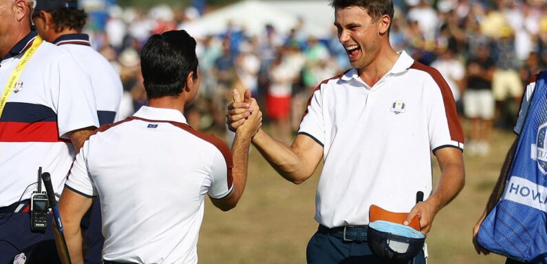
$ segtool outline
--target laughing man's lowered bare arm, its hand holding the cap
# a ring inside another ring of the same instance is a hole
[[[436,189],[429,198],[412,208],[403,224],[408,224],[418,215],[422,232],[426,234],[431,229],[435,215],[449,204],[464,187],[464,160],[460,149],[443,147],[435,152],[440,167],[440,178]]]

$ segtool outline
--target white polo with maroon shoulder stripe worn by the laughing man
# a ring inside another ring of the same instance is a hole
[[[449,86],[404,51],[372,87],[356,69],[322,82],[299,134],[323,146],[315,219],[329,228],[368,224],[371,204],[409,212],[431,193],[431,150],[464,142]]]

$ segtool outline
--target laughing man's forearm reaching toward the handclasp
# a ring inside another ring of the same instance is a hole
[[[253,137],[253,144],[268,163],[286,180],[300,184],[312,175],[313,171],[305,168],[303,160],[297,152],[294,152],[288,145],[272,139],[264,131],[257,132]]]

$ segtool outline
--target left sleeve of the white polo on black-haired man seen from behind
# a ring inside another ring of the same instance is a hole
[[[85,141],[80,153],[76,155],[76,160],[72,164],[72,169],[68,175],[65,187],[81,194],[85,197],[97,196],[97,190],[92,180],[92,176],[87,169],[87,153],[89,141]]]

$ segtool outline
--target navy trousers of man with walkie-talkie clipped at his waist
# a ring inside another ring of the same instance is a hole
[[[30,213],[0,214],[0,264],[12,264],[25,254],[25,264],[60,264],[55,246],[53,215],[47,215],[45,232],[30,230]]]

